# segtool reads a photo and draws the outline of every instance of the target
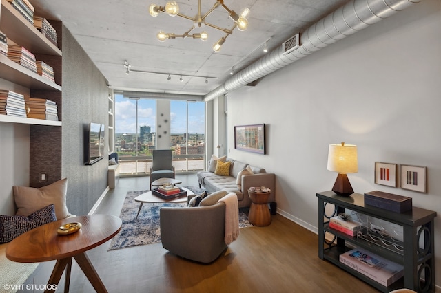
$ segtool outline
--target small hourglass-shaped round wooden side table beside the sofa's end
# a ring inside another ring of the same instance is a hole
[[[249,206],[249,223],[256,226],[268,226],[271,224],[271,214],[268,208],[268,199],[271,192],[252,191],[248,189],[251,206]]]

